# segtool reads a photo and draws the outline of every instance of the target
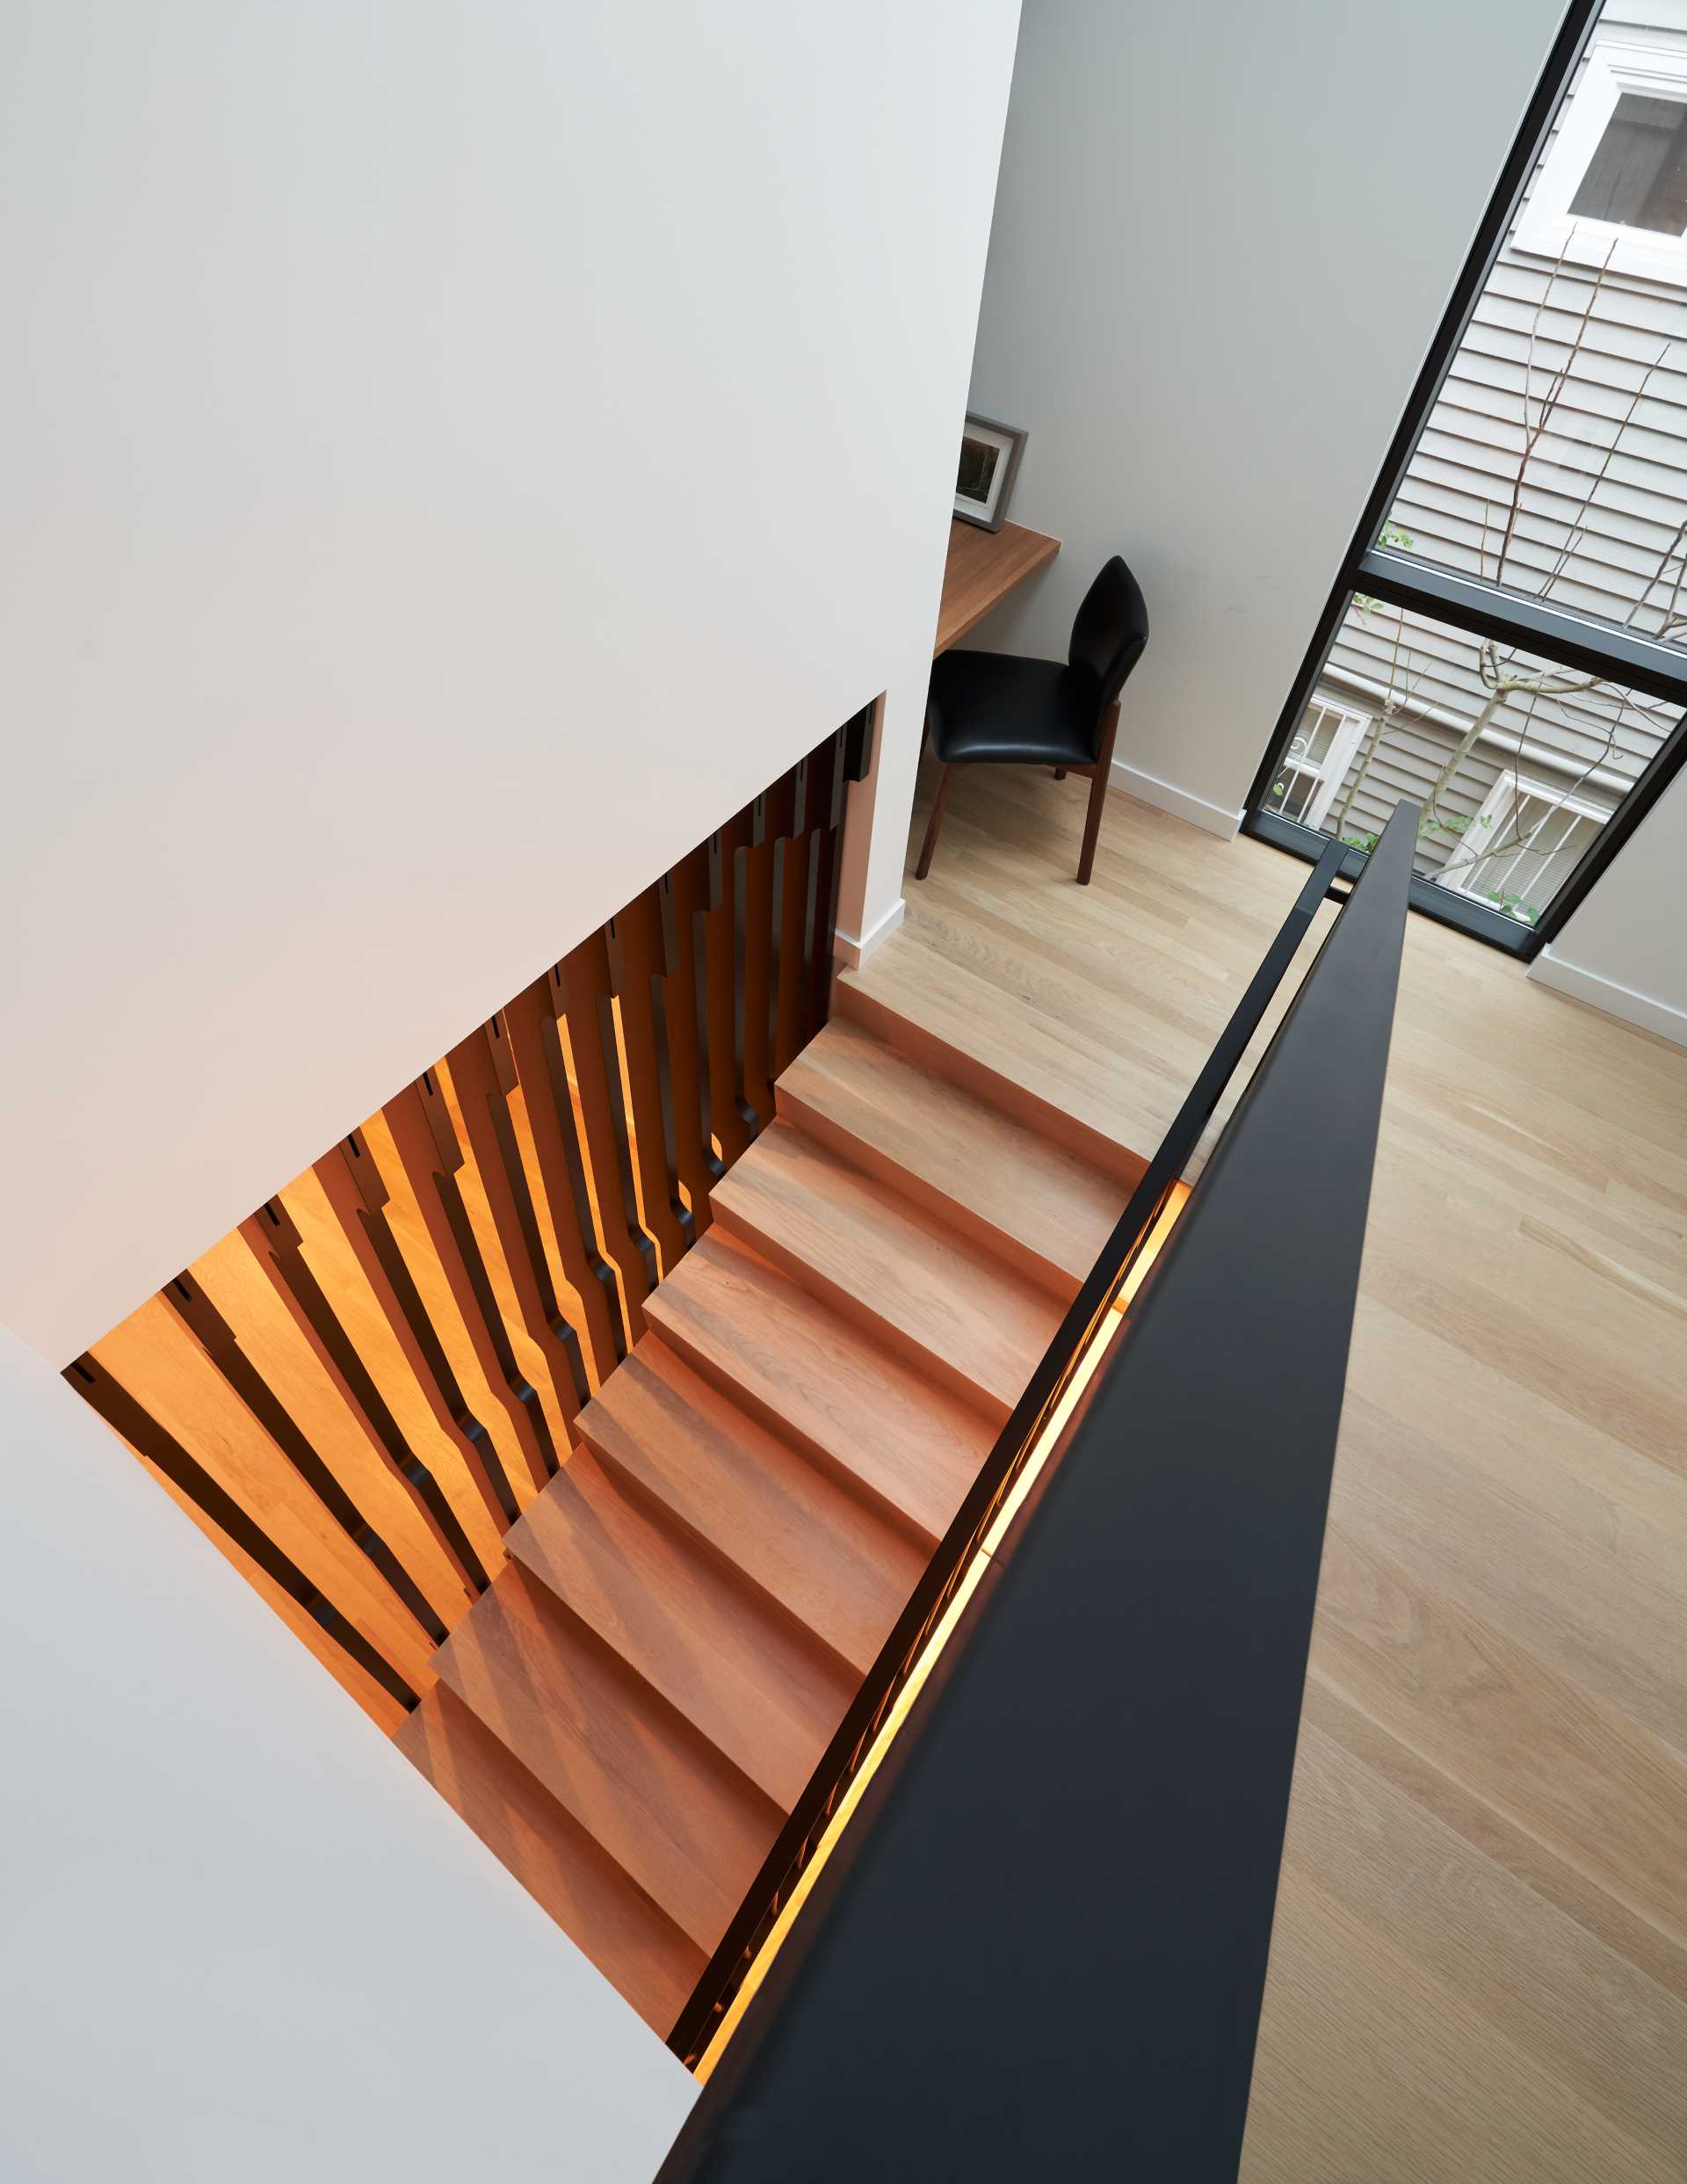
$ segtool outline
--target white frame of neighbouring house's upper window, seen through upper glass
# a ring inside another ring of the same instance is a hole
[[[1615,39],[1589,46],[1582,81],[1534,177],[1512,247],[1593,266],[1604,264],[1608,253],[1615,273],[1687,286],[1687,234],[1663,236],[1650,227],[1624,227],[1622,221],[1571,216],[1569,210],[1624,92],[1687,105],[1687,52]]]

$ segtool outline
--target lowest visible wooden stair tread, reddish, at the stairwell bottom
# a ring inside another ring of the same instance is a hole
[[[393,1741],[666,2040],[707,1966],[696,1942],[450,1686],[434,1684]]]

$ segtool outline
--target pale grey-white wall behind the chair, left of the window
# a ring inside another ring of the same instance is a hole
[[[973,642],[1124,553],[1135,795],[1235,828],[1560,13],[1026,0],[971,406],[1063,550]]]

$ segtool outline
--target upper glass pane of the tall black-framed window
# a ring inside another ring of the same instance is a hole
[[[1381,542],[1687,651],[1687,39],[1665,17],[1602,11]]]

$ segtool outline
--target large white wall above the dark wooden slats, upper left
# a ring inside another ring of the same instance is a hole
[[[930,649],[1017,0],[17,0],[0,1319],[98,1337]]]

